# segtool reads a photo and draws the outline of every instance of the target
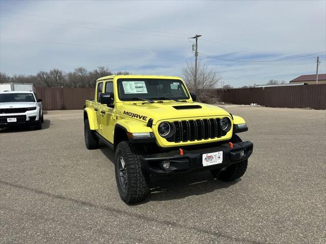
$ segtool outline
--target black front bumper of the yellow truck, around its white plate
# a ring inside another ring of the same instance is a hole
[[[223,151],[222,163],[203,166],[203,154],[215,153],[218,151]],[[241,151],[244,153],[243,156],[241,156]],[[180,150],[172,150],[166,153],[140,155],[140,158],[145,171],[152,175],[162,175],[224,168],[247,160],[252,154],[252,151],[253,143],[250,141],[243,141],[233,143],[233,148],[231,148],[229,144],[222,144],[221,146],[183,150],[183,155],[180,155]],[[169,169],[163,168],[164,162],[170,162]]]

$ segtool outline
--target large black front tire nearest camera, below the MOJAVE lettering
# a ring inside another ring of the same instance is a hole
[[[131,143],[122,141],[118,144],[115,171],[118,191],[125,203],[142,201],[149,193],[148,176]]]

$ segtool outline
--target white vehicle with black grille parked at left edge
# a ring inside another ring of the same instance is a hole
[[[11,126],[34,126],[42,129],[42,99],[34,92],[15,91],[0,93],[0,129]]]

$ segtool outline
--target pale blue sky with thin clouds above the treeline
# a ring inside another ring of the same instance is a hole
[[[313,74],[317,55],[326,73],[325,52],[269,62],[326,50],[326,1],[1,0],[0,8],[0,71],[8,75],[105,66],[181,76],[195,60],[195,34],[202,56],[223,58],[200,62],[235,87]]]

